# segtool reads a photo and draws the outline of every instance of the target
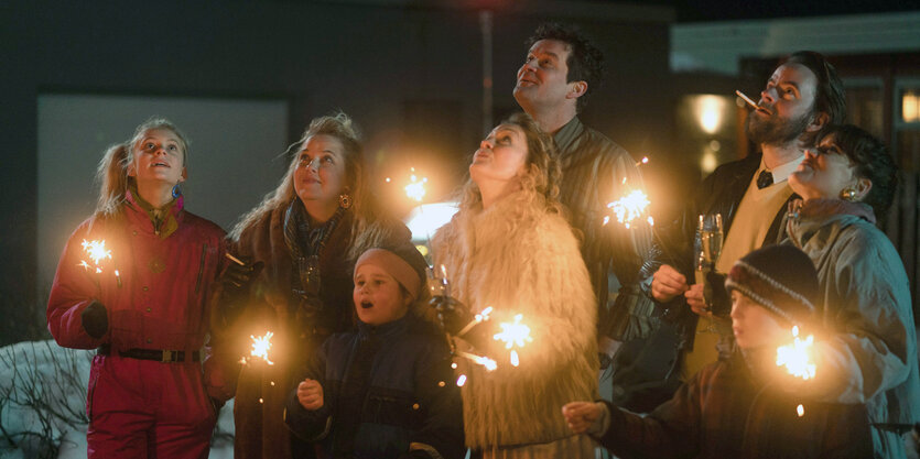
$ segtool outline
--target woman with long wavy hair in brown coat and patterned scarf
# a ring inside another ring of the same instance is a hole
[[[238,276],[226,276],[216,317],[225,368],[232,373],[250,354],[250,336],[273,334],[273,363],[250,359],[239,369],[236,458],[286,458],[292,447],[295,455],[312,448],[291,444],[285,397],[309,356],[354,325],[355,255],[369,243],[409,240],[402,223],[382,216],[365,167],[351,120],[316,118],[278,188],[230,232],[231,252],[246,263],[234,266]]]

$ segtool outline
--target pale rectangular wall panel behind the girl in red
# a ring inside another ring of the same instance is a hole
[[[186,209],[229,229],[286,167],[288,102],[98,95],[39,96],[39,298],[73,230],[96,205],[105,150],[152,116],[190,141]]]

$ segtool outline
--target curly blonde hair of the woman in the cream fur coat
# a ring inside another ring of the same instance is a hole
[[[559,183],[562,179],[562,170],[552,138],[540,129],[533,118],[523,112],[512,114],[499,125],[518,127],[527,138],[527,161],[523,172],[518,175],[522,193],[517,195],[517,199],[521,201],[521,205],[516,207],[517,211],[522,216],[534,210],[561,214]],[[461,189],[461,210],[479,207],[481,204],[483,195],[479,187],[468,178]]]

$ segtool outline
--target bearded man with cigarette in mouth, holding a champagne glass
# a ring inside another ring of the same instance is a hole
[[[760,92],[757,109],[748,114],[748,139],[760,153],[724,164],[696,190],[679,225],[674,265],[654,273],[651,293],[678,312],[681,342],[679,358],[683,381],[718,358],[732,339],[729,300],[724,273],[742,256],[761,245],[776,243],[784,232],[780,221],[793,196],[787,177],[799,166],[804,150],[814,146],[822,130],[843,122],[846,99],[843,83],[823,55],[801,51],[777,67]],[[725,234],[722,253],[711,276],[711,298],[703,284],[689,285],[693,273],[693,241],[699,215],[721,214]],[[678,303],[685,302],[690,312]],[[691,313],[692,312],[692,313]],[[702,318],[702,319],[701,319]]]

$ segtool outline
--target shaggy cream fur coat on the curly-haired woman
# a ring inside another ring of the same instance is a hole
[[[571,437],[562,405],[597,394],[597,307],[578,244],[562,216],[527,195],[486,210],[479,204],[462,209],[433,242],[451,294],[474,313],[494,307],[483,324],[489,336],[521,314],[533,338],[517,349],[517,368],[504,343],[491,339],[473,352],[496,360],[496,371],[461,360],[466,442],[475,449]]]

